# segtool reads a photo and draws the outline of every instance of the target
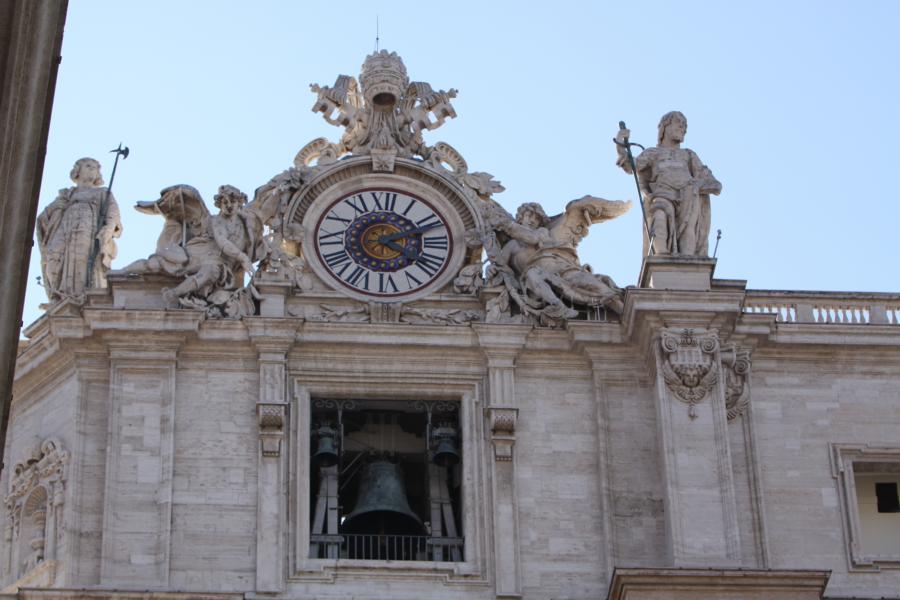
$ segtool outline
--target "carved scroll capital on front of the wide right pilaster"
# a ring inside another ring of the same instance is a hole
[[[718,335],[714,332],[696,334],[692,329],[663,330],[660,349],[666,386],[678,400],[688,405],[688,416],[696,419],[695,406],[706,398],[718,381]]]

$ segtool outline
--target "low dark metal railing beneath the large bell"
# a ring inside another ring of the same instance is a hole
[[[313,558],[458,562],[463,552],[463,538],[427,535],[342,533],[312,535],[310,542]]]

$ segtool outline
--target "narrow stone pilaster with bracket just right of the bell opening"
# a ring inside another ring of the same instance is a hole
[[[493,524],[494,580],[498,599],[520,598],[522,573],[519,559],[519,510],[516,493],[515,363],[525,345],[530,326],[475,325],[481,350],[487,358],[488,403],[485,409],[491,431],[493,460],[490,465]]]

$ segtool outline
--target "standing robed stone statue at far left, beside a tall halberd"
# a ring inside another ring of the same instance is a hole
[[[81,158],[69,176],[75,186],[59,191],[38,216],[35,230],[47,297],[81,303],[88,287],[106,287],[122,223],[115,198],[101,187],[99,162]],[[92,262],[95,240],[99,252]]]

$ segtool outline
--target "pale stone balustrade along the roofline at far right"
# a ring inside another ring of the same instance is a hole
[[[744,312],[780,323],[900,325],[900,294],[747,290]]]

